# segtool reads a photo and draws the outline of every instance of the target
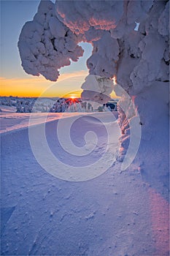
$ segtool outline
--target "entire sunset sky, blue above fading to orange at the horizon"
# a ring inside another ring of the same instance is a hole
[[[84,55],[69,67],[60,70],[57,82],[44,77],[26,74],[21,67],[18,52],[20,31],[28,20],[32,20],[39,1],[1,1],[1,96],[18,97],[63,97],[66,94],[80,95],[80,87],[88,75],[86,61],[92,52],[92,45],[82,42]],[[76,92],[75,92],[76,91]],[[112,97],[114,94],[112,94]]]

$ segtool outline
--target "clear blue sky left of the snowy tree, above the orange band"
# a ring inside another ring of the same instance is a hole
[[[34,17],[39,1],[1,1],[1,77],[24,77],[18,53],[22,26]]]

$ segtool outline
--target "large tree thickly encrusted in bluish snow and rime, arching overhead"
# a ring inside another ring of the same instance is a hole
[[[93,45],[87,61],[90,75],[82,85],[82,97],[106,102],[112,86],[105,82],[115,75],[117,83],[133,97],[142,120],[139,125],[145,127],[143,138],[149,140],[151,115],[142,102],[148,94],[167,90],[169,1],[41,1],[34,20],[26,23],[20,34],[18,47],[23,68],[29,74],[57,80],[58,69],[82,56],[78,46],[81,41]],[[98,83],[98,79],[104,83]],[[130,136],[127,116],[121,109],[127,101],[124,96],[118,107],[122,154]],[[163,110],[168,111],[167,102],[163,102]],[[152,104],[156,103],[150,99],[147,107]],[[136,113],[128,118],[133,115]]]

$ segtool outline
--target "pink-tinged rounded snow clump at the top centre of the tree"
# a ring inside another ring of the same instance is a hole
[[[91,27],[115,29],[123,16],[123,1],[55,1],[56,14],[76,34]]]

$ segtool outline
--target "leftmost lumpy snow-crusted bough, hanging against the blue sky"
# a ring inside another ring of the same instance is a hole
[[[58,69],[77,61],[83,50],[78,36],[55,15],[51,1],[41,1],[34,20],[27,22],[20,33],[18,48],[23,69],[31,75],[58,79]]]

